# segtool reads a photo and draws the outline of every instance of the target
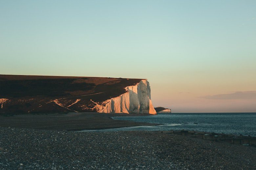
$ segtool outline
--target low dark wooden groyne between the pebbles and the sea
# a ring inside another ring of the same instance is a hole
[[[210,133],[210,132],[199,132],[193,130],[170,130],[160,131],[161,133],[171,133],[182,136],[189,136],[193,138],[206,139],[215,142],[225,142],[229,144],[239,144],[244,146],[256,147],[256,137],[253,136],[242,136],[242,135],[228,135],[223,133]]]

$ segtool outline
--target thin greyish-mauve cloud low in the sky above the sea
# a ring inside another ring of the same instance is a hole
[[[229,94],[206,95],[206,96],[201,96],[201,98],[205,98],[205,99],[221,99],[221,100],[256,99],[256,91],[233,92],[233,93],[229,93]]]

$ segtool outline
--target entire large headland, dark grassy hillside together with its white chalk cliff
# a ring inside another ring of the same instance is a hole
[[[146,79],[0,75],[0,113],[156,114]]]

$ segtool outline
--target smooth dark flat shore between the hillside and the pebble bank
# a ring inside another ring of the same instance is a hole
[[[108,129],[131,126],[157,125],[142,122],[113,120],[113,116],[135,116],[149,114],[124,113],[53,113],[0,115],[1,127],[18,127],[47,130]]]

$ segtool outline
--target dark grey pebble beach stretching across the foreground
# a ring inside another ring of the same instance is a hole
[[[256,169],[256,148],[153,131],[0,127],[0,169]]]

